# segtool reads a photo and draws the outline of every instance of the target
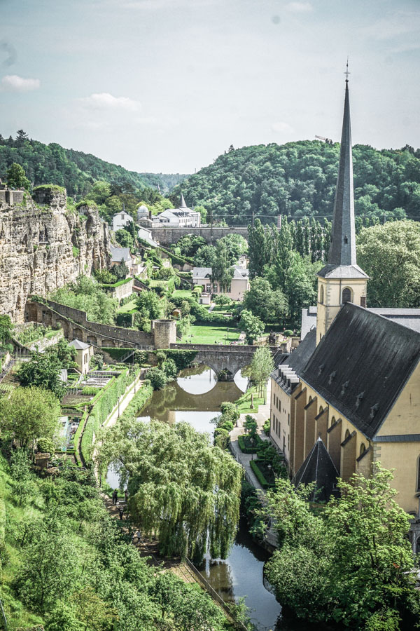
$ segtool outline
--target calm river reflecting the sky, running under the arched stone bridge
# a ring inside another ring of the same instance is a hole
[[[211,419],[221,414],[221,402],[237,400],[246,390],[247,381],[241,374],[235,376],[235,382],[216,381],[214,372],[202,366],[183,370],[177,381],[153,393],[139,419],[159,419],[171,425],[187,421],[196,430],[209,433],[211,440],[215,427]],[[116,471],[109,470],[106,480],[111,487],[118,487]],[[225,601],[245,597],[259,631],[286,631],[289,627],[279,619],[281,606],[263,584],[262,571],[267,558],[267,552],[248,534],[246,524],[241,523],[228,558],[207,558],[200,571]],[[304,628],[307,627],[293,625],[293,631]]]

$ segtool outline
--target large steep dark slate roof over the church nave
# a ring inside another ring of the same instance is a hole
[[[420,333],[346,303],[300,377],[372,439],[420,360]]]

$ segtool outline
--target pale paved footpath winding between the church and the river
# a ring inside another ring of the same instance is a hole
[[[260,405],[258,407],[258,412],[248,412],[247,414],[241,414],[239,416],[239,420],[237,423],[237,427],[234,427],[230,432],[230,451],[235,459],[241,464],[245,471],[246,480],[248,480],[249,484],[257,489],[261,494],[265,495],[265,489],[262,488],[260,482],[258,482],[258,478],[255,473],[251,469],[251,460],[253,460],[256,456],[255,454],[244,454],[239,449],[238,436],[245,433],[244,423],[246,416],[252,416],[252,418],[257,421],[257,432],[260,436],[261,440],[269,440],[269,437],[265,435],[262,427],[264,426],[265,421],[269,419],[269,403],[271,401],[271,379],[269,379],[267,384],[267,393],[265,397],[265,404]],[[262,498],[262,501],[264,499]],[[271,548],[277,548],[277,534],[274,528],[271,526],[265,535],[265,542]]]

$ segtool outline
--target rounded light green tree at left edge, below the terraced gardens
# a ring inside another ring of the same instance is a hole
[[[0,427],[27,447],[38,438],[52,438],[58,430],[59,400],[43,388],[15,388],[0,399]]]

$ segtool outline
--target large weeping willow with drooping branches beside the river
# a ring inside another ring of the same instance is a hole
[[[239,521],[241,466],[188,423],[171,427],[122,419],[107,430],[99,458],[120,466],[129,509],[160,552],[225,559]]]

